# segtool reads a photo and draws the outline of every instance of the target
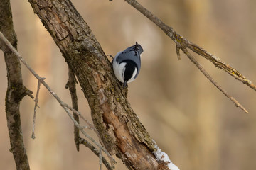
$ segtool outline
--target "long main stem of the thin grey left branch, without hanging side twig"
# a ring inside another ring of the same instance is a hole
[[[18,53],[18,51],[11,45],[11,43],[9,42],[9,40],[7,40],[5,38],[5,36],[3,35],[3,33],[1,33],[0,31],[0,38],[1,40],[4,41],[4,43],[9,47],[9,49],[14,53],[14,55],[16,55],[18,57],[19,60],[21,60],[21,62],[28,68],[28,70],[33,74],[34,77],[36,77],[36,79],[38,79],[38,81],[41,81],[41,84],[43,84],[43,86],[46,87],[46,89],[48,91],[50,91],[50,94],[53,95],[53,97],[58,101],[58,103],[60,103],[60,106],[63,107],[63,109],[65,110],[66,113],[68,113],[68,116],[70,117],[71,120],[73,120],[73,123],[79,128],[79,130],[82,132],[83,135],[85,135],[85,137],[87,137],[89,140],[91,140],[93,143],[95,143],[95,145],[97,145],[97,147],[99,147],[100,149],[102,149],[103,152],[105,152],[105,154],[107,154],[107,156],[110,158],[110,162],[115,162],[114,158],[111,157],[110,153],[107,152],[107,149],[105,149],[105,147],[102,147],[102,145],[100,145],[98,142],[96,142],[92,137],[90,137],[90,135],[87,135],[87,133],[83,130],[82,126],[80,126],[78,124],[78,122],[73,118],[73,115],[70,113],[70,111],[75,111],[73,108],[71,108],[70,106],[68,106],[68,104],[64,103],[57,94],[55,94],[55,92],[50,88],[50,86],[48,86],[48,84],[46,84],[46,81],[44,81],[30,66],[29,64],[26,62],[26,60],[23,59],[23,57],[21,57],[21,55]],[[77,112],[77,111],[76,111]],[[77,112],[78,113],[78,112]]]

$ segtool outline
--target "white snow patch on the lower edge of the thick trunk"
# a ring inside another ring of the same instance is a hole
[[[156,142],[154,142],[154,148],[156,148],[156,152],[153,152],[153,154],[156,157],[157,162],[169,162],[168,168],[170,170],[179,170],[178,166],[171,162],[168,155],[165,152],[162,152],[161,149],[156,145]]]

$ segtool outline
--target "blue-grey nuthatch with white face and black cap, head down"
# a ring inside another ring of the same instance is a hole
[[[114,57],[112,61],[114,74],[119,81],[124,83],[124,86],[127,86],[127,83],[134,81],[138,76],[142,52],[142,46],[136,42],[135,45],[128,47],[124,51],[117,52]]]

